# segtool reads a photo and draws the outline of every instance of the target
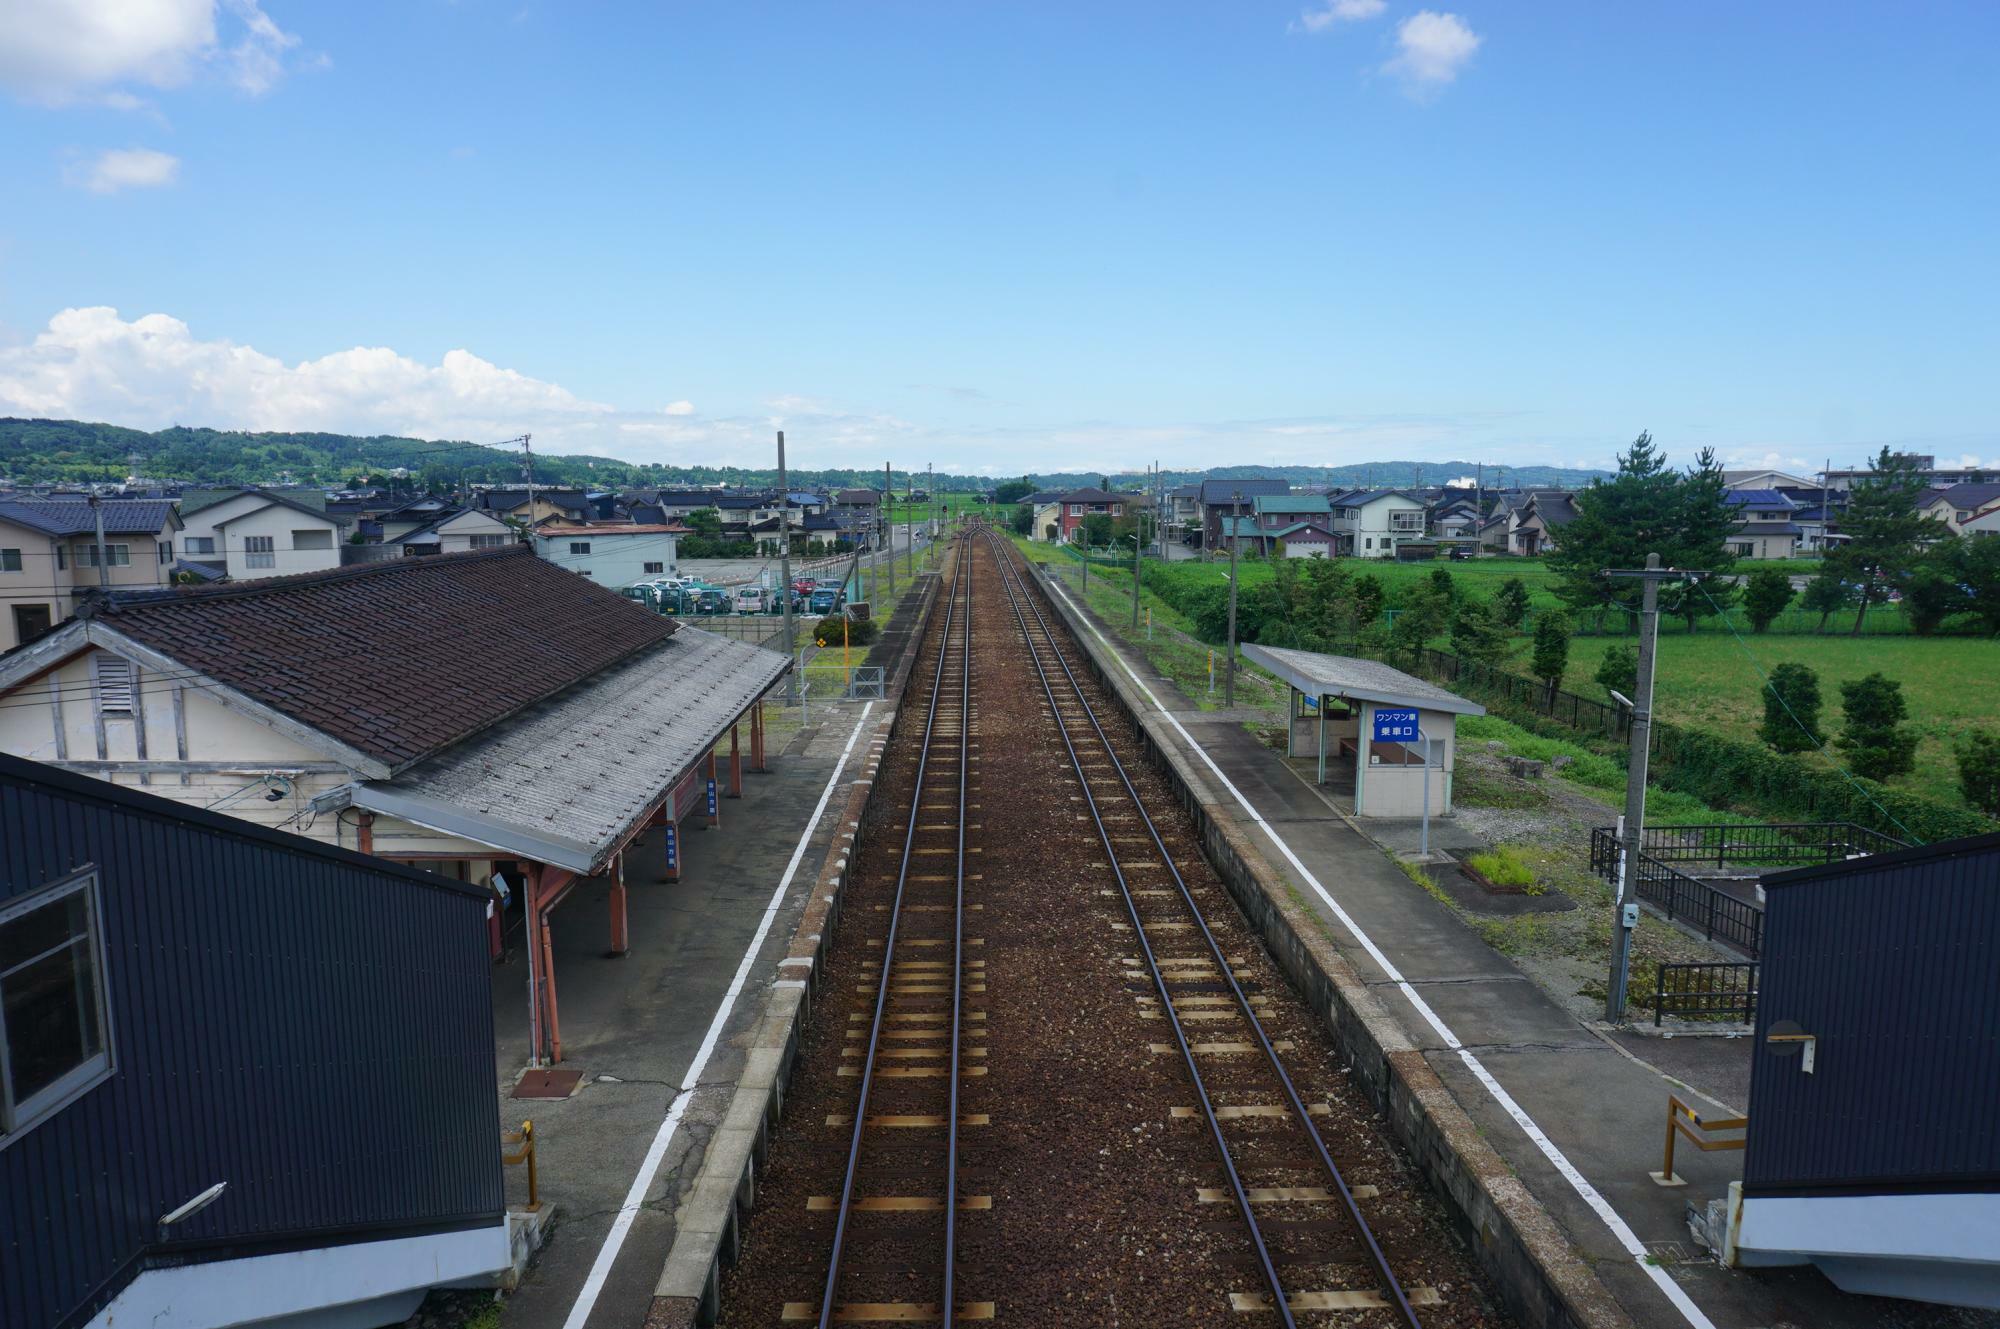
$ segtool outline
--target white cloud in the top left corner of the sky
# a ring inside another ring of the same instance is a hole
[[[0,86],[46,106],[136,110],[144,100],[132,86],[178,88],[212,68],[260,96],[298,38],[258,0],[224,4],[234,18],[228,46],[218,0],[0,0]]]

